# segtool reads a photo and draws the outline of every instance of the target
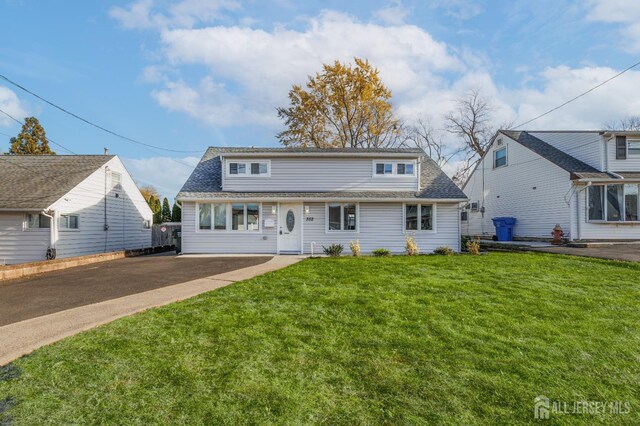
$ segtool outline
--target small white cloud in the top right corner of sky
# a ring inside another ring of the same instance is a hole
[[[640,2],[633,0],[590,0],[587,19],[620,24],[626,50],[640,52]]]

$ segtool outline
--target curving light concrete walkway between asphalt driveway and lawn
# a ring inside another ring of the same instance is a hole
[[[275,271],[304,256],[275,256],[266,263],[182,284],[56,312],[0,327],[0,366],[33,350],[84,330],[149,308],[188,299],[207,291]]]

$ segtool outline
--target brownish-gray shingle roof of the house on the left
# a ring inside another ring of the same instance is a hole
[[[0,156],[0,209],[45,209],[113,157]]]

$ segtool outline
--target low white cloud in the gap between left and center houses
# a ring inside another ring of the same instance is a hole
[[[200,158],[123,158],[122,161],[139,185],[153,185],[163,197],[172,199],[191,175],[193,169],[187,165],[195,167]],[[171,173],[167,173],[167,170],[171,170]]]

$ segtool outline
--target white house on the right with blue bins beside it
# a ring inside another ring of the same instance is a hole
[[[512,216],[516,238],[640,240],[639,184],[640,132],[501,130],[463,187],[462,233]]]

